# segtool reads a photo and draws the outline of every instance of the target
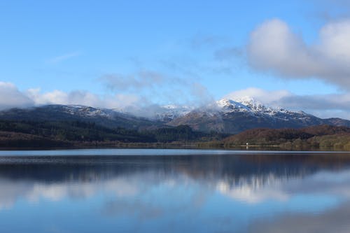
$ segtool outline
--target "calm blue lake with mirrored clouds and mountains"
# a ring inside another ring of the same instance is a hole
[[[350,232],[350,154],[2,151],[0,232]]]

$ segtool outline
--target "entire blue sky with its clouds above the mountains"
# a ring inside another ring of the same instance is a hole
[[[204,104],[249,94],[350,118],[349,6],[0,1],[0,107]]]

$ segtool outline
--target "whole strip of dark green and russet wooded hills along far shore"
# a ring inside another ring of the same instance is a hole
[[[187,125],[135,130],[83,121],[0,120],[0,148],[79,148],[192,143],[209,147],[278,146],[287,149],[350,150],[350,127],[249,129],[236,135],[193,131]]]

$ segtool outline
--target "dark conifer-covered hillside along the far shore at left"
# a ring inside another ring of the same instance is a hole
[[[70,147],[101,143],[171,143],[223,139],[223,134],[194,132],[186,125],[137,131],[94,122],[0,120],[1,147]]]

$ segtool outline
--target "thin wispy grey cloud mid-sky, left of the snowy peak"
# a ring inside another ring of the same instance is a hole
[[[204,106],[214,101],[209,90],[190,74],[170,76],[151,70],[130,75],[109,74],[99,81],[111,92],[133,93],[142,99],[140,104],[186,104]]]

